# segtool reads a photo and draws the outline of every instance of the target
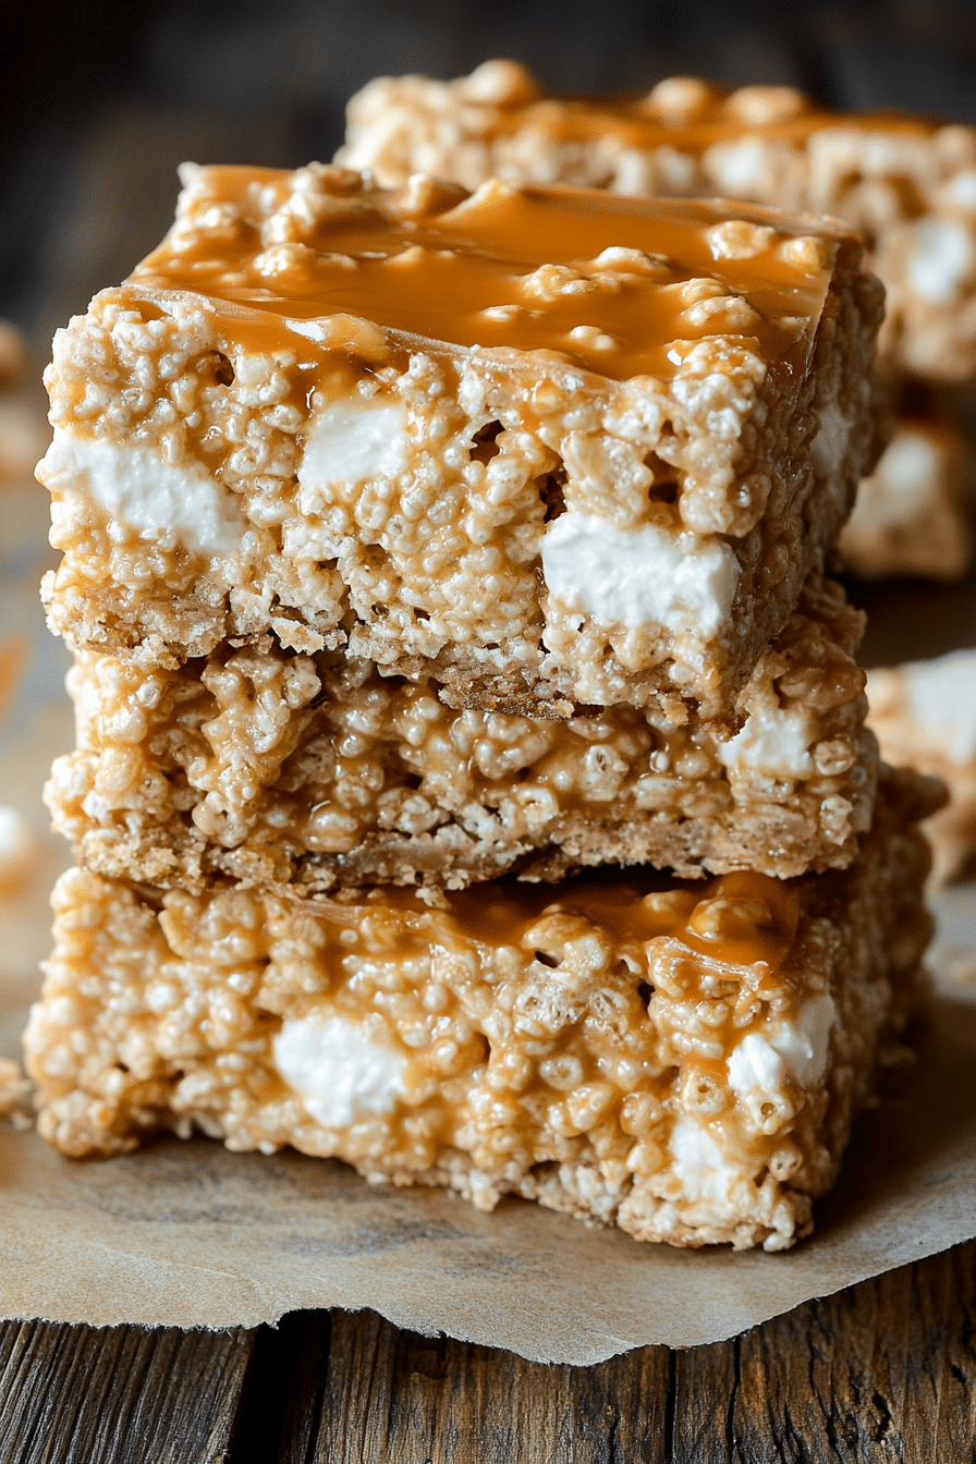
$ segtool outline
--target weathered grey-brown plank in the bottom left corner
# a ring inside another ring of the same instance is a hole
[[[0,1325],[0,1464],[221,1464],[253,1332]]]

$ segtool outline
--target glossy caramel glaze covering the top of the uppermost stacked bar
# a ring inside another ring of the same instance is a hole
[[[380,332],[356,328],[366,321],[455,347],[555,351],[613,379],[672,376],[686,343],[717,335],[802,369],[846,237],[752,205],[597,189],[490,182],[467,196],[414,177],[385,192],[318,167],[198,177],[200,203],[189,190],[127,291],[162,309],[189,291],[240,347],[315,357],[382,359]]]

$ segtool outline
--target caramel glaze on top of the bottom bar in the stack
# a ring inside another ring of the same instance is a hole
[[[528,949],[540,919],[562,915],[609,931],[620,956],[638,965],[645,963],[644,943],[666,935],[708,965],[764,962],[770,971],[789,956],[799,921],[796,881],[751,870],[701,886],[653,870],[607,870],[566,880],[559,892],[553,900],[552,886],[499,880],[448,893],[443,909],[432,911],[411,890],[389,887],[375,890],[366,908],[382,912],[391,953],[476,941]],[[329,908],[341,924],[357,924],[363,914],[363,905]]]

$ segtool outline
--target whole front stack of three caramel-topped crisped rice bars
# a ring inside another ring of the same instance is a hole
[[[47,376],[45,1138],[805,1234],[929,934],[825,577],[881,316],[830,221],[187,167]]]

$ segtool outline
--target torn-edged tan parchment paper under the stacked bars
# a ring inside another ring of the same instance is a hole
[[[0,802],[32,820],[38,859],[26,889],[0,900],[0,1056],[18,1051],[48,946],[47,892],[67,862],[40,805],[51,757],[72,742],[54,700],[64,659],[23,605],[0,593],[7,625],[16,612],[35,647],[0,733]],[[435,1190],[372,1189],[334,1161],[208,1140],[73,1162],[0,1126],[0,1316],[221,1328],[373,1307],[421,1332],[596,1363],[647,1342],[718,1341],[972,1239],[976,887],[942,896],[938,914],[941,994],[920,1060],[859,1123],[815,1234],[795,1250],[641,1244],[518,1200],[481,1215]]]

